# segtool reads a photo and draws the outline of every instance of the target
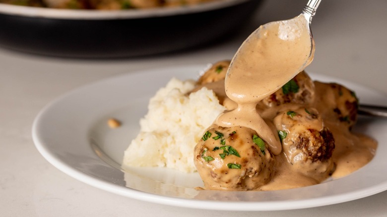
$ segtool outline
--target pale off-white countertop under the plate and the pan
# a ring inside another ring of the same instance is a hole
[[[48,163],[32,142],[31,127],[37,113],[66,92],[117,74],[230,59],[258,24],[296,16],[305,3],[306,0],[267,0],[238,36],[176,54],[80,60],[0,48],[0,216],[386,216],[387,191],[331,206],[276,212],[193,210],[137,201],[66,175]],[[387,94],[386,8],[385,0],[323,0],[312,26],[317,47],[315,60],[307,70],[358,82]]]

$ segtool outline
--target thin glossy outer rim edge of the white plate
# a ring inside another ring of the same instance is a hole
[[[188,68],[191,72],[195,69],[203,69],[206,66],[203,64],[200,65],[186,65],[186,66],[172,66],[172,67],[165,67],[163,70],[178,70],[178,69],[184,69]],[[116,79],[121,79],[123,77],[131,77],[134,74],[142,74],[142,73],[151,73],[151,72],[156,72],[159,71],[160,69],[147,69],[147,70],[139,70],[134,73],[127,73],[127,74],[120,74],[120,75],[115,75],[110,78],[106,78],[91,84],[86,84],[83,85],[79,88],[76,88],[72,91],[69,91],[65,93],[64,95],[58,97],[57,99],[51,101],[49,104],[47,104],[43,109],[39,111],[37,116],[35,117],[32,125],[32,139],[35,144],[35,147],[39,151],[39,153],[51,164],[53,164],[55,167],[57,167],[59,170],[64,172],[65,174],[82,181],[86,184],[89,184],[93,187],[106,190],[111,193],[115,193],[118,195],[126,196],[132,199],[137,199],[137,200],[142,200],[142,201],[147,201],[147,202],[152,202],[152,203],[158,203],[158,204],[163,204],[163,205],[170,205],[170,206],[178,206],[178,207],[185,207],[185,208],[195,208],[195,209],[205,209],[205,210],[229,210],[229,211],[279,211],[279,210],[295,210],[295,209],[304,209],[304,208],[312,208],[312,207],[320,207],[320,206],[326,206],[326,205],[332,205],[332,204],[338,204],[338,203],[343,203],[343,202],[348,202],[360,198],[364,198],[367,196],[371,196],[380,192],[383,192],[387,190],[387,180],[385,180],[384,183],[380,183],[379,185],[373,185],[369,186],[367,188],[362,188],[361,190],[357,190],[354,192],[349,192],[346,193],[345,195],[349,195],[350,198],[340,198],[338,195],[332,197],[328,197],[329,200],[326,200],[326,197],[319,197],[319,198],[309,198],[309,199],[303,199],[303,200],[295,200],[295,201],[268,201],[268,202],[225,202],[225,201],[212,201],[212,200],[196,200],[196,199],[188,199],[188,198],[174,198],[170,196],[163,196],[163,195],[157,195],[153,193],[148,193],[144,192],[141,190],[133,189],[133,188],[128,188],[124,186],[119,186],[116,184],[113,184],[111,182],[107,182],[104,180],[99,180],[93,177],[90,177],[89,175],[69,166],[65,162],[61,161],[58,158],[55,158],[50,153],[49,147],[44,144],[44,141],[42,138],[39,136],[39,126],[42,124],[41,120],[42,117],[45,115],[45,112],[53,107],[58,102],[61,102],[64,98],[69,97],[73,94],[76,94],[77,92],[87,89],[90,86],[94,86],[97,84],[104,84],[108,80],[114,81]],[[313,73],[311,74],[313,78]],[[327,76],[323,75],[323,77],[329,77],[329,78],[334,78],[335,81],[337,80],[343,80],[340,78],[335,78],[333,76]],[[314,79],[315,80],[315,79]],[[349,83],[354,83],[354,82],[349,82]],[[354,83],[355,84],[355,83]],[[164,85],[164,84],[163,84]],[[358,84],[357,84],[358,85]],[[365,87],[363,85],[360,85],[361,87]],[[374,90],[369,87],[365,87],[368,90],[372,90],[373,92],[379,93],[379,91]],[[382,94],[383,95],[383,94]],[[384,95],[385,96],[385,95]],[[386,96],[385,96],[386,97]],[[386,98],[387,99],[387,98]],[[100,159],[102,161],[102,159]],[[300,202],[305,202],[308,201],[309,203],[302,204]],[[187,203],[189,202],[189,203]],[[316,203],[314,206],[310,205],[310,202]],[[232,204],[238,204],[238,206],[227,206],[227,209],[225,209],[225,204],[232,205]],[[256,206],[257,204],[265,205],[265,206]],[[200,205],[200,206],[198,206]],[[252,206],[254,205],[254,206]]]

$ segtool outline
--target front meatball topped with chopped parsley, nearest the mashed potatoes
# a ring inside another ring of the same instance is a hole
[[[274,158],[254,130],[212,125],[194,148],[194,163],[206,189],[246,191],[271,180]]]

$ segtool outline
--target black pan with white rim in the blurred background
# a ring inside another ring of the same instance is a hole
[[[0,46],[61,57],[161,54],[237,31],[261,0],[220,0],[139,10],[73,10],[0,3]]]

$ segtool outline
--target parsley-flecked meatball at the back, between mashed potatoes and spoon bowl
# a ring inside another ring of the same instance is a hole
[[[203,85],[224,80],[230,62],[230,60],[223,60],[212,64],[212,66],[207,69],[204,74],[198,79],[197,84]]]

